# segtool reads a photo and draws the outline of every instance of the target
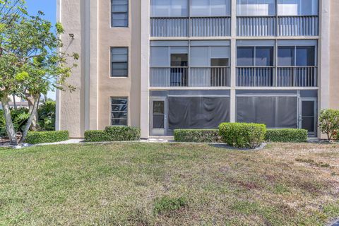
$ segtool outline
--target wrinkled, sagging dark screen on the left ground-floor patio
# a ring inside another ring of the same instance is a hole
[[[169,97],[169,129],[216,129],[230,121],[230,97]]]

